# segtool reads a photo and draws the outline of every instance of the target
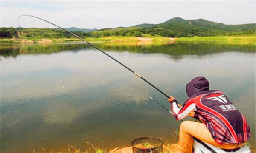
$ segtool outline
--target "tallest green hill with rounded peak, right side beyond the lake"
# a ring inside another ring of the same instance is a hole
[[[163,29],[173,33],[175,37],[255,34],[255,23],[225,25],[204,19],[184,20],[180,17],[174,17],[160,24],[140,24],[134,27]]]

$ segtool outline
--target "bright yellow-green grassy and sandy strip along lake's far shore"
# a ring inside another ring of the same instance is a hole
[[[229,45],[255,45],[255,35],[250,36],[214,36],[214,37],[100,37],[85,38],[89,43],[106,43],[108,45],[151,45],[151,44],[175,44],[177,42],[207,42]],[[25,40],[20,38],[0,38],[0,44],[20,43],[20,44],[51,44],[64,42],[83,42],[78,38],[44,38],[41,40]]]

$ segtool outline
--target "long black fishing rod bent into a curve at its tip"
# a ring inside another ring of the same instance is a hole
[[[35,17],[35,16],[33,16],[33,15],[27,15],[27,14],[20,15],[20,16],[18,17],[18,23],[19,23],[20,17],[22,17],[22,16]],[[35,17],[35,18],[37,18],[37,19],[39,19],[39,20],[43,20],[43,21],[45,21],[45,22],[47,22],[47,23],[50,23],[50,24],[52,24],[53,26],[56,26],[56,27],[58,27],[58,28],[61,28],[60,26],[57,26],[57,25],[55,25],[54,23],[51,23],[51,22],[49,22],[49,21],[47,21],[47,20],[41,19],[41,18],[39,18],[39,17]],[[19,25],[20,25],[20,23],[19,23]],[[103,54],[107,55],[108,57],[110,57],[110,58],[113,59],[114,61],[118,62],[118,63],[119,63],[120,65],[122,65],[123,67],[127,68],[127,69],[128,69],[129,71],[131,71],[132,73],[134,73],[137,77],[139,77],[140,79],[143,79],[145,82],[147,82],[149,85],[151,85],[151,86],[152,86],[153,88],[155,88],[157,91],[159,91],[161,94],[163,94],[164,96],[166,96],[168,99],[170,98],[169,96],[167,96],[166,94],[164,94],[163,91],[160,91],[157,87],[155,87],[154,85],[152,85],[152,84],[151,84],[150,82],[148,82],[146,79],[144,79],[144,78],[141,77],[139,74],[137,74],[135,71],[131,70],[130,68],[128,68],[127,66],[125,66],[124,64],[122,64],[121,62],[119,62],[118,60],[116,60],[115,58],[111,57],[111,56],[110,56],[109,54],[107,54],[105,51],[102,51],[101,49],[99,49],[99,48],[97,48],[96,46],[92,45],[91,43],[87,42],[86,40],[84,40],[83,38],[79,37],[78,35],[73,34],[72,32],[70,32],[70,31],[68,31],[68,30],[66,30],[66,29],[64,29],[64,28],[61,28],[61,29],[64,30],[64,31],[66,31],[66,32],[68,32],[69,34],[72,34],[73,36],[79,38],[80,40],[86,42],[88,45],[92,46],[93,48],[95,48],[95,49],[101,51]]]

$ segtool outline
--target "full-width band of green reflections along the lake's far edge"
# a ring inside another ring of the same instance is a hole
[[[95,44],[97,47],[104,51],[129,51],[134,53],[161,53],[175,56],[176,58],[181,55],[207,55],[214,53],[221,53],[227,51],[236,52],[255,52],[255,45],[216,45],[212,43],[197,43],[197,42],[178,42],[176,44],[165,45],[115,45],[113,43],[99,43]],[[80,49],[91,48],[86,43],[61,43],[61,44],[1,44],[0,55],[3,57],[17,57],[19,54],[51,54],[61,51],[77,52]]]

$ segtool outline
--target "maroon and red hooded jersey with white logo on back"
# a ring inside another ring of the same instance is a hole
[[[183,119],[191,111],[200,119],[218,144],[239,144],[248,140],[250,127],[236,106],[218,90],[209,90],[205,77],[196,77],[186,85],[189,98],[179,108],[172,103],[172,111],[177,120]]]

